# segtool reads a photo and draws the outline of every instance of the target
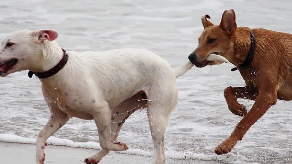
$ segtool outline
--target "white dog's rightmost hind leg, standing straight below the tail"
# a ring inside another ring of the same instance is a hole
[[[166,81],[167,84],[164,84],[164,88],[151,88],[150,93],[148,93],[151,102],[148,102],[147,114],[154,144],[154,164],[163,164],[166,161],[164,135],[169,116],[177,103],[178,97],[176,82],[173,80]]]

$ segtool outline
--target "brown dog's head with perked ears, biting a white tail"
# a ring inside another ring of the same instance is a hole
[[[204,31],[198,39],[198,47],[189,55],[190,62],[197,67],[226,62],[226,60],[215,60],[214,56],[219,55],[229,60],[230,55],[233,55],[232,34],[237,28],[234,10],[224,11],[220,25],[213,25],[207,18],[210,19],[210,16],[205,15],[201,18]]]

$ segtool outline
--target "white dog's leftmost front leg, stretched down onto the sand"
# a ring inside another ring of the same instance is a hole
[[[36,138],[36,163],[43,164],[45,160],[44,149],[46,140],[54,134],[58,129],[60,129],[65,123],[69,120],[67,114],[56,110],[51,113],[51,117],[44,126],[44,128],[39,132],[39,135]]]

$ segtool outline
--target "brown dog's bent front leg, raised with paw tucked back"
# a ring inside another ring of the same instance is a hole
[[[237,98],[247,98],[256,100],[258,92],[248,87],[227,87],[224,90],[224,97],[228,105],[228,109],[235,115],[245,116],[247,111],[245,106],[237,102]]]

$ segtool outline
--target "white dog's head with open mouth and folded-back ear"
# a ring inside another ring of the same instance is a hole
[[[0,44],[0,76],[27,69],[41,70],[43,50],[57,37],[58,33],[52,30],[21,30],[8,35]]]

